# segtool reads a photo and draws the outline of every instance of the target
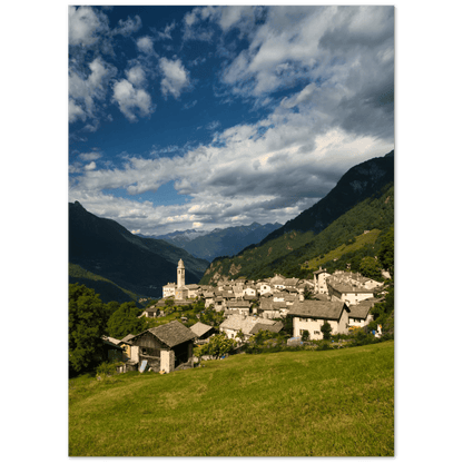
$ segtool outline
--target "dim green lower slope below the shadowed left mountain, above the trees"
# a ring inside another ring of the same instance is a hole
[[[71,283],[79,283],[95,289],[95,293],[100,295],[100,299],[104,303],[116,301],[121,304],[138,301],[135,293],[121,288],[108,278],[87,272],[79,265],[68,263],[68,284]]]

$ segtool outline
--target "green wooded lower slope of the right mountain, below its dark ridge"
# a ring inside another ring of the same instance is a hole
[[[303,278],[312,265],[317,268],[316,265],[322,263],[328,263],[331,269],[345,269],[348,262],[352,269],[357,270],[359,259],[375,255],[374,246],[381,245],[382,237],[393,224],[394,186],[388,185],[342,215],[318,235],[290,232],[263,246],[245,249],[235,257],[214,260],[200,284],[213,284],[220,277],[266,278],[275,273]],[[365,230],[374,233],[361,239]],[[364,240],[363,246],[352,246],[358,239],[359,243]],[[333,253],[335,249],[336,253]],[[334,258],[337,260],[333,262]]]

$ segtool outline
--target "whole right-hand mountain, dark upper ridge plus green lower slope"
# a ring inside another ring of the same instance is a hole
[[[394,151],[391,151],[349,169],[328,195],[258,245],[248,246],[233,258],[215,259],[200,284],[239,276],[265,278],[275,273],[304,277],[308,269],[305,263],[315,258],[322,262],[325,254],[342,245],[347,249],[365,230],[377,229],[377,240],[356,250],[358,256],[374,256],[374,246],[381,244],[394,223]],[[345,259],[358,264],[352,253]],[[342,265],[345,268],[345,259],[336,258],[339,268]]]

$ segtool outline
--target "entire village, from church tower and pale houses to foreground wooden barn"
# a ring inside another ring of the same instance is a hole
[[[275,275],[262,280],[219,280],[217,286],[186,285],[185,264],[177,267],[177,283],[162,287],[162,298],[140,315],[162,317],[167,306],[189,305],[204,301],[205,308],[223,313],[225,321],[218,331],[197,322],[190,327],[179,321],[149,328],[122,339],[105,336],[108,359],[119,361],[118,372],[149,370],[170,373],[194,366],[194,346],[208,343],[217,332],[243,344],[259,331],[277,334],[282,319],[292,316],[293,338],[301,342],[304,333],[311,339],[322,339],[322,325],[328,323],[334,335],[347,334],[353,327],[364,327],[373,321],[371,313],[382,299],[383,284],[361,274],[326,269],[314,272],[313,279],[286,278]],[[311,298],[306,298],[307,294]],[[199,317],[199,316],[198,316]],[[376,337],[380,337],[381,325]]]

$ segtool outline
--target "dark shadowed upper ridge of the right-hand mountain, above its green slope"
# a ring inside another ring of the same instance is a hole
[[[344,174],[337,185],[318,203],[266,236],[259,245],[288,232],[318,234],[356,204],[370,198],[394,181],[394,150],[381,158],[368,159]]]

